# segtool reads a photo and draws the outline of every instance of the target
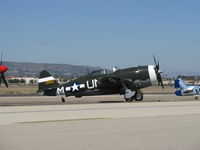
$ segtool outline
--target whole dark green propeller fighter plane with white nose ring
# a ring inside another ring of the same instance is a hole
[[[156,85],[164,88],[159,62],[155,66],[139,66],[117,70],[105,74],[104,71],[94,71],[89,75],[81,76],[71,82],[59,85],[47,71],[42,71],[39,76],[38,92],[46,96],[92,96],[106,94],[123,94],[127,102],[141,101],[143,93],[140,89]]]

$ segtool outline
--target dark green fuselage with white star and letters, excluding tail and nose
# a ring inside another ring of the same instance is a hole
[[[148,66],[117,70],[109,74],[93,72],[60,85],[56,95],[89,96],[123,92],[123,84],[132,91],[151,86]]]

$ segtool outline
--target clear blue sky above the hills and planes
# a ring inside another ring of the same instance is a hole
[[[200,71],[199,0],[0,0],[7,61]]]

